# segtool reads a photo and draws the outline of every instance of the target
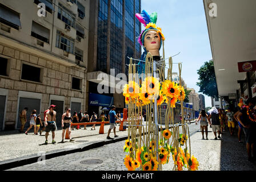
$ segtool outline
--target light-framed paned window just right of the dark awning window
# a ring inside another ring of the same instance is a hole
[[[65,36],[62,32],[57,31],[56,47],[63,51],[74,53],[74,40]]]

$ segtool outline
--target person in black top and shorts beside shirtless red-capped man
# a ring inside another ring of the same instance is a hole
[[[62,140],[61,143],[64,143],[64,136],[65,136],[65,131],[67,129],[67,134],[69,135],[69,142],[74,142],[74,139],[71,138],[71,128],[70,128],[70,123],[71,123],[71,109],[67,108],[66,113],[62,114],[61,117],[61,127],[62,127]]]

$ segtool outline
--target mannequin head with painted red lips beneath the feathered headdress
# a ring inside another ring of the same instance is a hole
[[[161,46],[161,39],[157,31],[150,30],[146,32],[144,38],[144,47],[149,51],[153,56],[159,56],[159,48]]]

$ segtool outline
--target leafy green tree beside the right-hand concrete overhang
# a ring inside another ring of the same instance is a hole
[[[198,69],[197,74],[199,75],[199,82],[197,82],[200,88],[199,92],[210,97],[218,97],[213,61],[205,62],[205,64]]]

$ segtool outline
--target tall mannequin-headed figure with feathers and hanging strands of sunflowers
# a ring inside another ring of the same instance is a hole
[[[161,28],[155,25],[157,13],[149,15],[143,10],[136,17],[146,29],[138,39],[144,49],[141,60],[134,64],[130,58],[129,81],[123,88],[123,96],[128,105],[128,138],[123,147],[128,155],[125,156],[124,164],[129,171],[157,171],[162,170],[163,164],[168,164],[172,156],[174,170],[196,170],[199,164],[194,156],[190,156],[189,127],[183,117],[181,132],[179,125],[174,125],[177,101],[181,102],[183,115],[185,91],[181,85],[182,65],[178,63],[179,84],[176,84],[171,78],[173,60],[170,57],[165,79],[164,47],[163,60],[160,60],[159,55],[165,37]],[[167,104],[165,125],[162,125],[162,117],[159,115],[163,102]],[[143,110],[146,110],[146,122],[142,122]]]

